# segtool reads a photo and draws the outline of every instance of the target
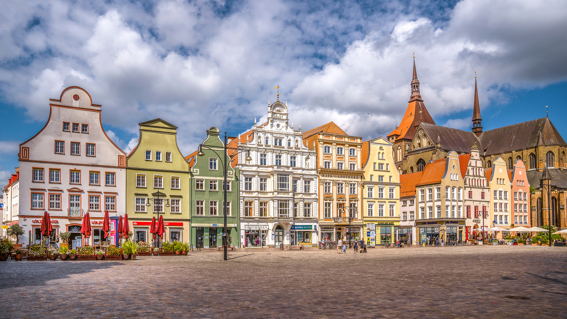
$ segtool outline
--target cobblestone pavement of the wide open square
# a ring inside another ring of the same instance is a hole
[[[0,317],[567,317],[566,248],[272,249],[229,258],[1,262]]]

